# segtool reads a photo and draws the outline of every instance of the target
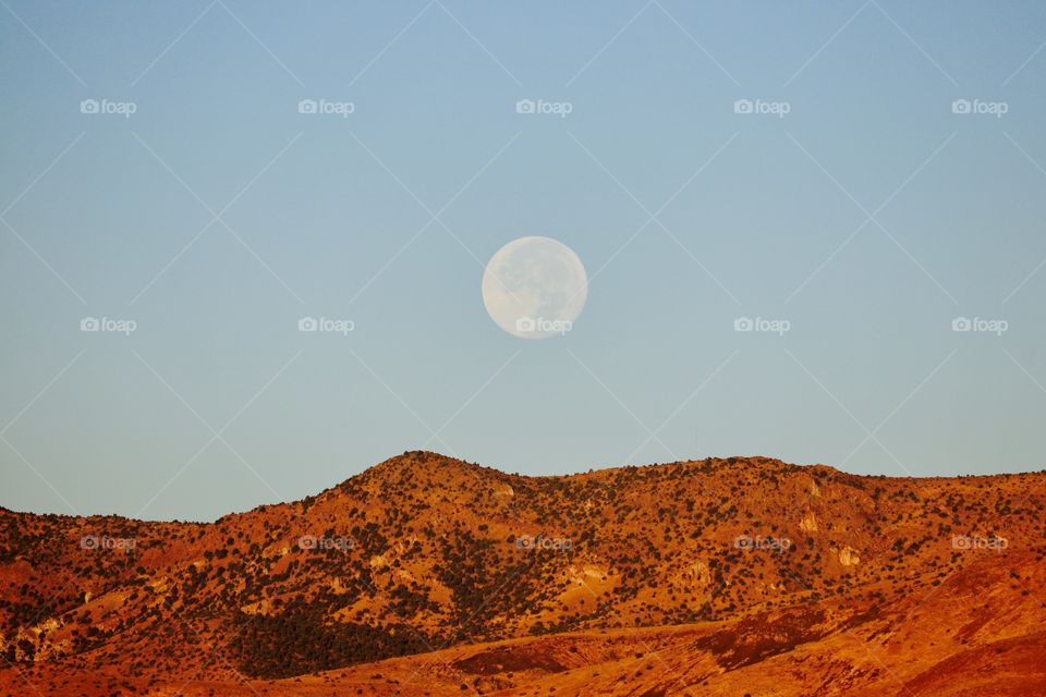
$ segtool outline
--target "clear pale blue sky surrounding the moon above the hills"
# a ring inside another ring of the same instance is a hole
[[[2,506],[1044,467],[1041,2],[0,5]],[[542,341],[481,296],[531,235]]]

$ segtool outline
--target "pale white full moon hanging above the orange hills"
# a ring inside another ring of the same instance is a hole
[[[483,272],[487,314],[520,339],[565,334],[587,298],[585,266],[573,249],[550,237],[513,240]]]

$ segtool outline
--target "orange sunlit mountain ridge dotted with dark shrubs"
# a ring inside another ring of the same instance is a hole
[[[1046,472],[411,452],[214,523],[0,510],[0,694],[1041,695]]]

